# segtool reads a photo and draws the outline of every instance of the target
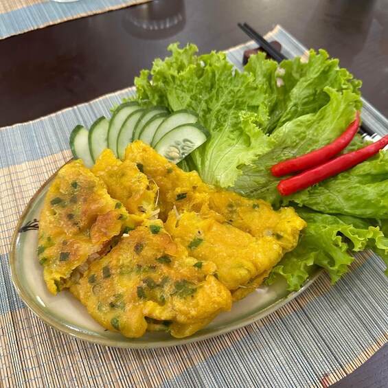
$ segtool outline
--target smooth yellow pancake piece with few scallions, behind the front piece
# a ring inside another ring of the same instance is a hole
[[[244,286],[251,279],[269,271],[282,258],[283,249],[274,236],[255,238],[227,223],[203,218],[195,212],[174,212],[166,222],[174,240],[187,248],[197,260],[217,266],[217,277],[229,290]]]

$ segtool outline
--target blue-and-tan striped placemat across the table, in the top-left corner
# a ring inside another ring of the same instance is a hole
[[[152,0],[1,0],[0,39]]]

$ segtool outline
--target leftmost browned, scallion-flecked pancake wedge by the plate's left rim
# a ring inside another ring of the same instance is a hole
[[[76,160],[62,167],[47,192],[38,233],[38,258],[56,294],[74,269],[102,251],[133,220],[104,183]]]

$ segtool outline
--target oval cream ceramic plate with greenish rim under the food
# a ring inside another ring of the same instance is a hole
[[[86,308],[67,290],[55,296],[49,293],[43,279],[43,267],[36,254],[38,219],[54,176],[34,195],[19,220],[12,240],[11,275],[19,295],[39,318],[49,326],[78,339],[129,348],[168,347],[201,341],[258,321],[303,292],[321,273],[316,269],[304,287],[293,293],[287,290],[286,282],[262,286],[233,304],[231,311],[222,312],[206,328],[185,339],[174,339],[164,332],[147,332],[139,339],[129,339],[117,332],[109,332],[95,322]]]

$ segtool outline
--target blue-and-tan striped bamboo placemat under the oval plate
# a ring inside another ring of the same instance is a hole
[[[299,54],[284,34],[280,27],[272,32]],[[241,68],[242,53],[254,46],[233,47],[227,56]],[[71,128],[109,115],[130,93],[0,129],[0,387],[328,387],[388,342],[388,278],[383,260],[369,252],[356,254],[350,273],[334,286],[321,275],[260,321],[176,347],[87,343],[26,308],[10,279],[16,222],[34,192],[71,158]]]

